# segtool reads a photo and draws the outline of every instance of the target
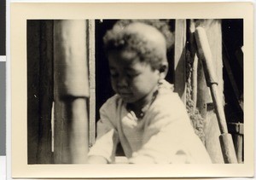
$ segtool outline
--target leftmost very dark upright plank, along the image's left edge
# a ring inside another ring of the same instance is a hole
[[[27,20],[27,163],[37,163],[39,126],[40,22]]]

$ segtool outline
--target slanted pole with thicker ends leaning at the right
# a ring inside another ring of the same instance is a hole
[[[220,96],[218,94],[218,82],[217,82],[216,74],[214,73],[212,68],[212,53],[208,44],[207,34],[204,28],[202,27],[196,28],[195,40],[198,47],[198,55],[199,55],[199,58],[201,59],[202,66],[204,69],[207,86],[211,90],[212,100],[216,110],[218,125],[221,132],[221,135],[219,136],[219,141],[221,143],[224,162],[237,163],[236,152],[235,152],[232,136],[228,133],[228,128],[226,125],[222,99],[219,98]]]

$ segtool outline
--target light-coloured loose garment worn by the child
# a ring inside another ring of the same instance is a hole
[[[96,143],[89,156],[102,156],[114,163],[120,142],[130,163],[211,163],[183,102],[167,82],[160,86],[143,119],[129,112],[118,95],[103,104],[100,114]]]

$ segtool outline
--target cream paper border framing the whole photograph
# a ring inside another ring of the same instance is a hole
[[[26,20],[243,19],[244,164],[27,165]],[[11,3],[12,177],[253,177],[253,3]]]

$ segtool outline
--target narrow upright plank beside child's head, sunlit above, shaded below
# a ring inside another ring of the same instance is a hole
[[[175,21],[174,90],[186,102],[186,20]]]

